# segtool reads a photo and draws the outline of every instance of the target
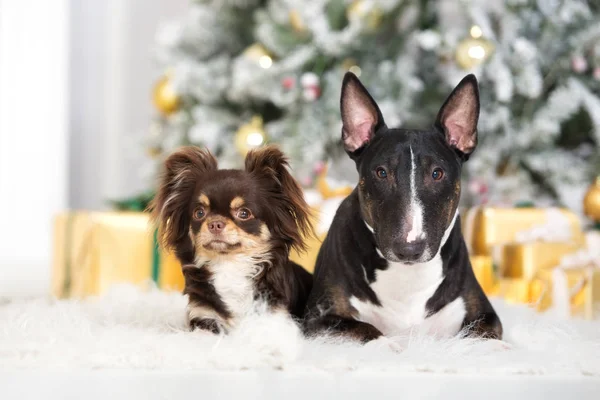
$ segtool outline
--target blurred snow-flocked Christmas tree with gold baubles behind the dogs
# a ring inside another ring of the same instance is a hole
[[[480,82],[469,204],[579,208],[599,172],[600,20],[584,1],[197,0],[157,36],[165,75],[149,147],[208,147],[221,166],[280,144],[311,186],[346,168],[343,74],[360,76],[395,127],[427,127],[467,73]]]

